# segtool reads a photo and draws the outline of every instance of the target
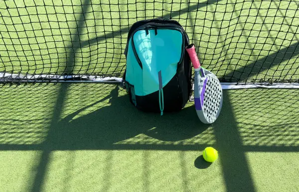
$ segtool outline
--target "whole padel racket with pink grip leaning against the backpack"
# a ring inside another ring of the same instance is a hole
[[[186,47],[195,71],[194,105],[197,116],[205,124],[213,123],[222,107],[222,88],[216,75],[200,66],[194,44]]]

